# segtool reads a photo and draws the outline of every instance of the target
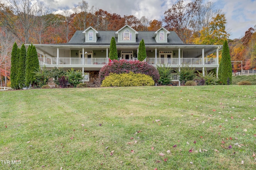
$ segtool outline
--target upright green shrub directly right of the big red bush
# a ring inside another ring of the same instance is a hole
[[[158,84],[160,85],[168,85],[172,81],[172,72],[173,69],[171,67],[165,65],[157,65],[156,66],[160,78],[158,80]]]

